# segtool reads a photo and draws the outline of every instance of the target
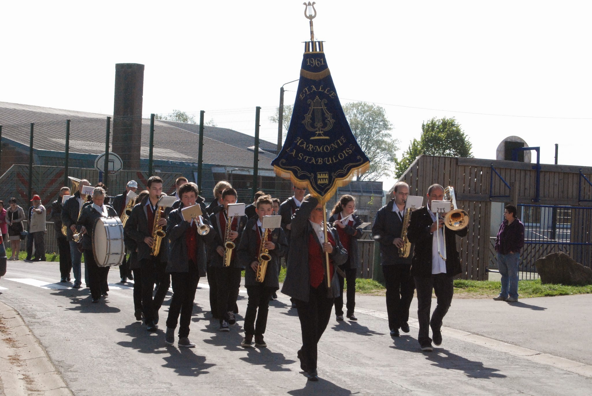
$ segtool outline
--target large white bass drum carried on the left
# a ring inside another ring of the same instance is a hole
[[[126,248],[123,244],[123,224],[119,217],[99,217],[96,220],[92,233],[92,253],[99,267],[121,265]]]

